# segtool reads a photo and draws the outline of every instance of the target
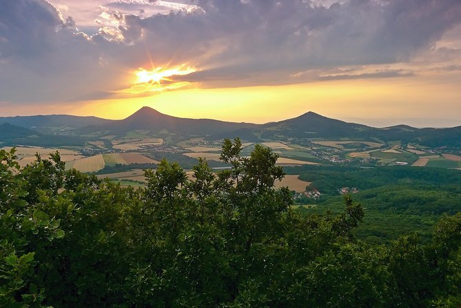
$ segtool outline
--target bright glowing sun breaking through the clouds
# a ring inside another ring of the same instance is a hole
[[[137,84],[157,84],[161,86],[161,81],[174,82],[175,76],[184,76],[194,73],[195,68],[186,66],[179,66],[177,68],[153,68],[153,70],[146,70],[139,68],[135,73],[137,76]]]

